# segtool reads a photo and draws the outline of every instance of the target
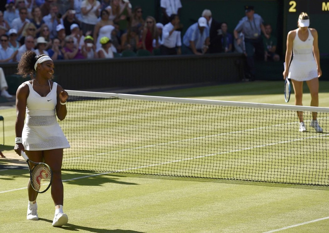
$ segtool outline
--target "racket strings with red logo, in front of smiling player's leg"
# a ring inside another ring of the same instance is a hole
[[[37,164],[31,171],[31,185],[36,191],[48,188],[52,179],[50,168],[45,164]]]

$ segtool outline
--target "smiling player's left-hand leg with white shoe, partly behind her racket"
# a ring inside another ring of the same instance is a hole
[[[28,158],[36,163],[43,162],[43,151],[25,151]],[[34,167],[34,164],[30,164],[30,168],[32,169]],[[37,206],[37,197],[38,192],[35,191],[32,186],[31,182],[29,180],[29,183],[27,185],[27,192],[29,195],[29,203],[27,206],[27,214],[26,219],[28,220],[38,220],[38,206]]]

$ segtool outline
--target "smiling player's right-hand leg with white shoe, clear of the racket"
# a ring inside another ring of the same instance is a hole
[[[44,161],[53,171],[53,181],[51,184],[51,197],[55,204],[55,216],[52,225],[63,226],[67,223],[67,215],[63,213],[63,182],[62,182],[62,161],[63,149],[44,151]]]

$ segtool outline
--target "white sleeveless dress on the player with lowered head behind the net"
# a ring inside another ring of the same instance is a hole
[[[313,55],[313,35],[308,28],[309,36],[305,41],[299,39],[299,28],[293,40],[293,58],[289,67],[288,78],[296,81],[308,81],[317,78],[316,61]]]

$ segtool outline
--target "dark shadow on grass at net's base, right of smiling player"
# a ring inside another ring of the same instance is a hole
[[[82,176],[63,179],[63,182],[74,185],[88,185],[88,186],[102,186],[105,183],[125,184],[125,185],[138,185],[137,183],[124,182],[120,180],[120,175],[109,173],[95,173],[85,174],[83,172],[75,171],[75,176],[81,173]]]

